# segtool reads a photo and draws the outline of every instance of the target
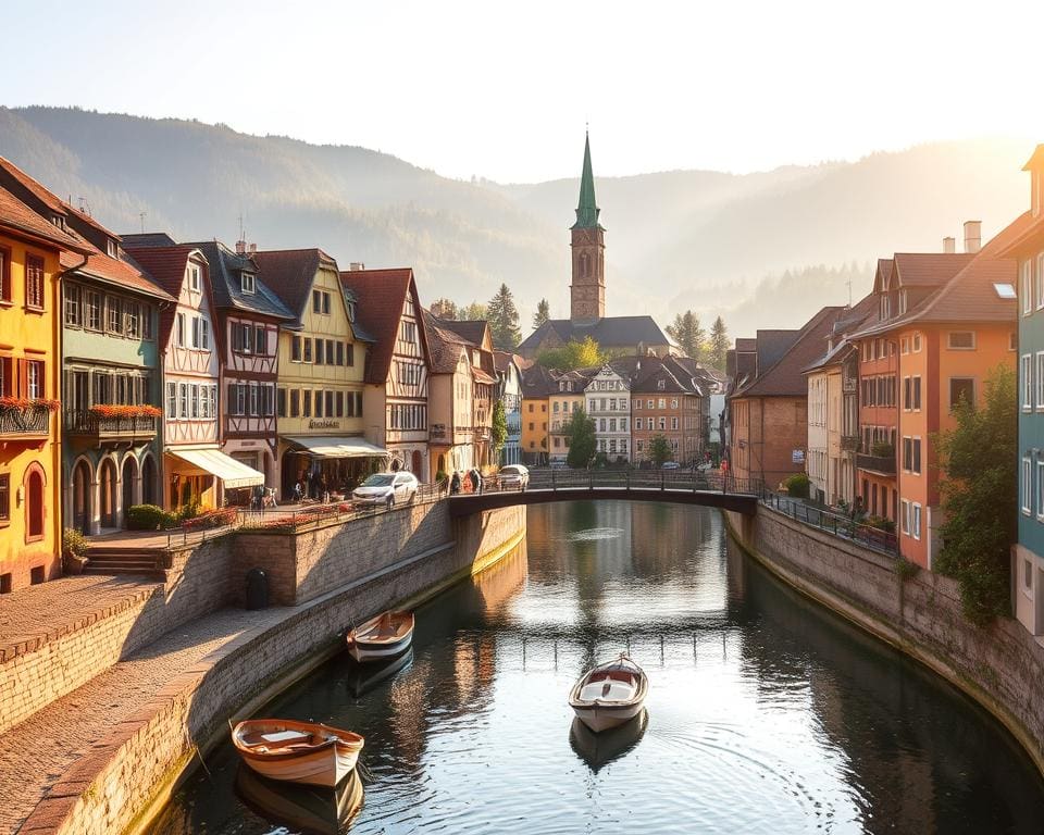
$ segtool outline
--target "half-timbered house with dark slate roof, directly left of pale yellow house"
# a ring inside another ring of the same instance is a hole
[[[275,423],[279,325],[295,316],[258,274],[239,241],[232,251],[220,241],[195,245],[210,264],[217,327],[222,333],[220,391],[221,448],[227,456],[278,484]],[[249,503],[251,488],[229,490],[228,499]]]

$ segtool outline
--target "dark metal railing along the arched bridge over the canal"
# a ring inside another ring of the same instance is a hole
[[[489,476],[483,483],[485,493],[518,491],[518,482],[501,482]],[[678,470],[531,470],[530,490],[684,490],[686,493],[728,493],[761,496],[760,479],[736,478],[718,471]]]

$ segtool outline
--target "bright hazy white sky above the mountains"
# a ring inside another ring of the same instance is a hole
[[[601,176],[1044,140],[1040,0],[2,8],[21,34],[2,104],[224,122],[456,177],[575,176],[585,122]]]

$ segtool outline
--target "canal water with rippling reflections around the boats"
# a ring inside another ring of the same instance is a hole
[[[624,650],[647,711],[595,736],[567,695]],[[363,734],[360,777],[287,790],[225,745],[153,833],[1044,832],[1044,784],[996,722],[706,509],[532,507],[524,546],[418,610],[409,656],[339,656],[262,713]]]

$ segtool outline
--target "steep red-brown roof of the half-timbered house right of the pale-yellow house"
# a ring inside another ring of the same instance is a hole
[[[373,338],[374,346],[366,359],[366,382],[382,385],[387,382],[399,334],[399,321],[408,295],[420,311],[413,270],[350,270],[340,274],[341,285],[356,298],[356,321]],[[424,316],[417,316],[419,336],[425,357],[431,357]]]

